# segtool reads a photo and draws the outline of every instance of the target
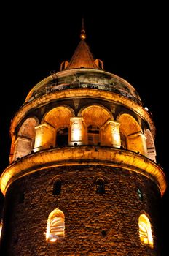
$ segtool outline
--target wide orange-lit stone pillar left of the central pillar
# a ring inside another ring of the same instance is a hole
[[[50,124],[40,124],[36,129],[34,151],[55,146],[56,131]]]

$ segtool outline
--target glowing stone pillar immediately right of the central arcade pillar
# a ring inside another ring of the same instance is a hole
[[[101,127],[104,129],[103,145],[120,148],[121,140],[119,134],[119,126],[120,124],[118,121],[106,121],[106,124]]]

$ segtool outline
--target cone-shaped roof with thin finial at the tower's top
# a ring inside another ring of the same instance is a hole
[[[81,41],[77,46],[74,55],[71,57],[71,61],[69,62],[66,69],[75,69],[75,68],[90,68],[90,69],[98,69],[97,64],[95,64],[95,60],[93,58],[93,53],[90,52],[90,48],[85,42],[86,31],[84,29],[84,19],[82,18],[82,29],[80,34]]]

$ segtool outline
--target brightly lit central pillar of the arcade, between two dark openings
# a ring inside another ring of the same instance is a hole
[[[69,145],[83,145],[84,144],[84,124],[82,117],[71,118],[71,141]]]

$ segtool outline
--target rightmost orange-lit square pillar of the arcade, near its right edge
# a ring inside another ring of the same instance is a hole
[[[129,142],[128,149],[147,156],[146,137],[142,132],[135,132],[134,134],[128,135],[127,138]]]

